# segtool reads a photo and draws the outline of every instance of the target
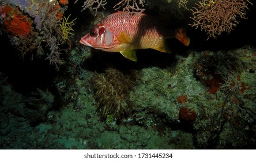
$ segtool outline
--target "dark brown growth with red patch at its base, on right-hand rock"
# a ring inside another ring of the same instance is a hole
[[[240,59],[239,54],[231,51],[228,53],[205,51],[193,64],[195,78],[209,87],[209,93],[215,94],[223,85],[225,77],[239,75],[242,71],[243,63]]]

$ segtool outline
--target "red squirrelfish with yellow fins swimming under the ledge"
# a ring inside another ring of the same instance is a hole
[[[107,52],[121,52],[127,59],[137,61],[135,49],[170,53],[165,39],[173,37],[186,46],[190,43],[182,28],[168,29],[163,21],[144,13],[118,12],[98,22],[80,43]]]

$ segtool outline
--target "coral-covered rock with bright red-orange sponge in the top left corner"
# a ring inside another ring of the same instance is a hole
[[[47,0],[0,3],[3,4],[0,7],[3,31],[9,35],[11,44],[18,49],[20,55],[24,58],[30,53],[32,59],[44,57],[58,70],[64,63],[61,57],[65,51],[63,45],[65,43],[70,45],[68,39],[74,31],[71,26],[67,26],[73,24],[73,21],[67,22],[65,18],[61,21],[64,7],[61,7],[57,1]]]

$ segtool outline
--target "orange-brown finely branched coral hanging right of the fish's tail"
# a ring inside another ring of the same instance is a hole
[[[205,30],[209,37],[216,39],[216,35],[222,32],[231,32],[238,25],[238,17],[246,18],[249,0],[203,0],[197,2],[197,7],[191,10],[193,13],[191,26],[198,26]]]

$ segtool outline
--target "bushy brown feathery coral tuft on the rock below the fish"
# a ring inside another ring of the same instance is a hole
[[[95,74],[92,78],[91,85],[103,119],[112,115],[120,120],[131,114],[133,106],[129,101],[129,91],[135,85],[135,75],[137,74],[127,75],[115,68],[107,68],[104,74]]]

